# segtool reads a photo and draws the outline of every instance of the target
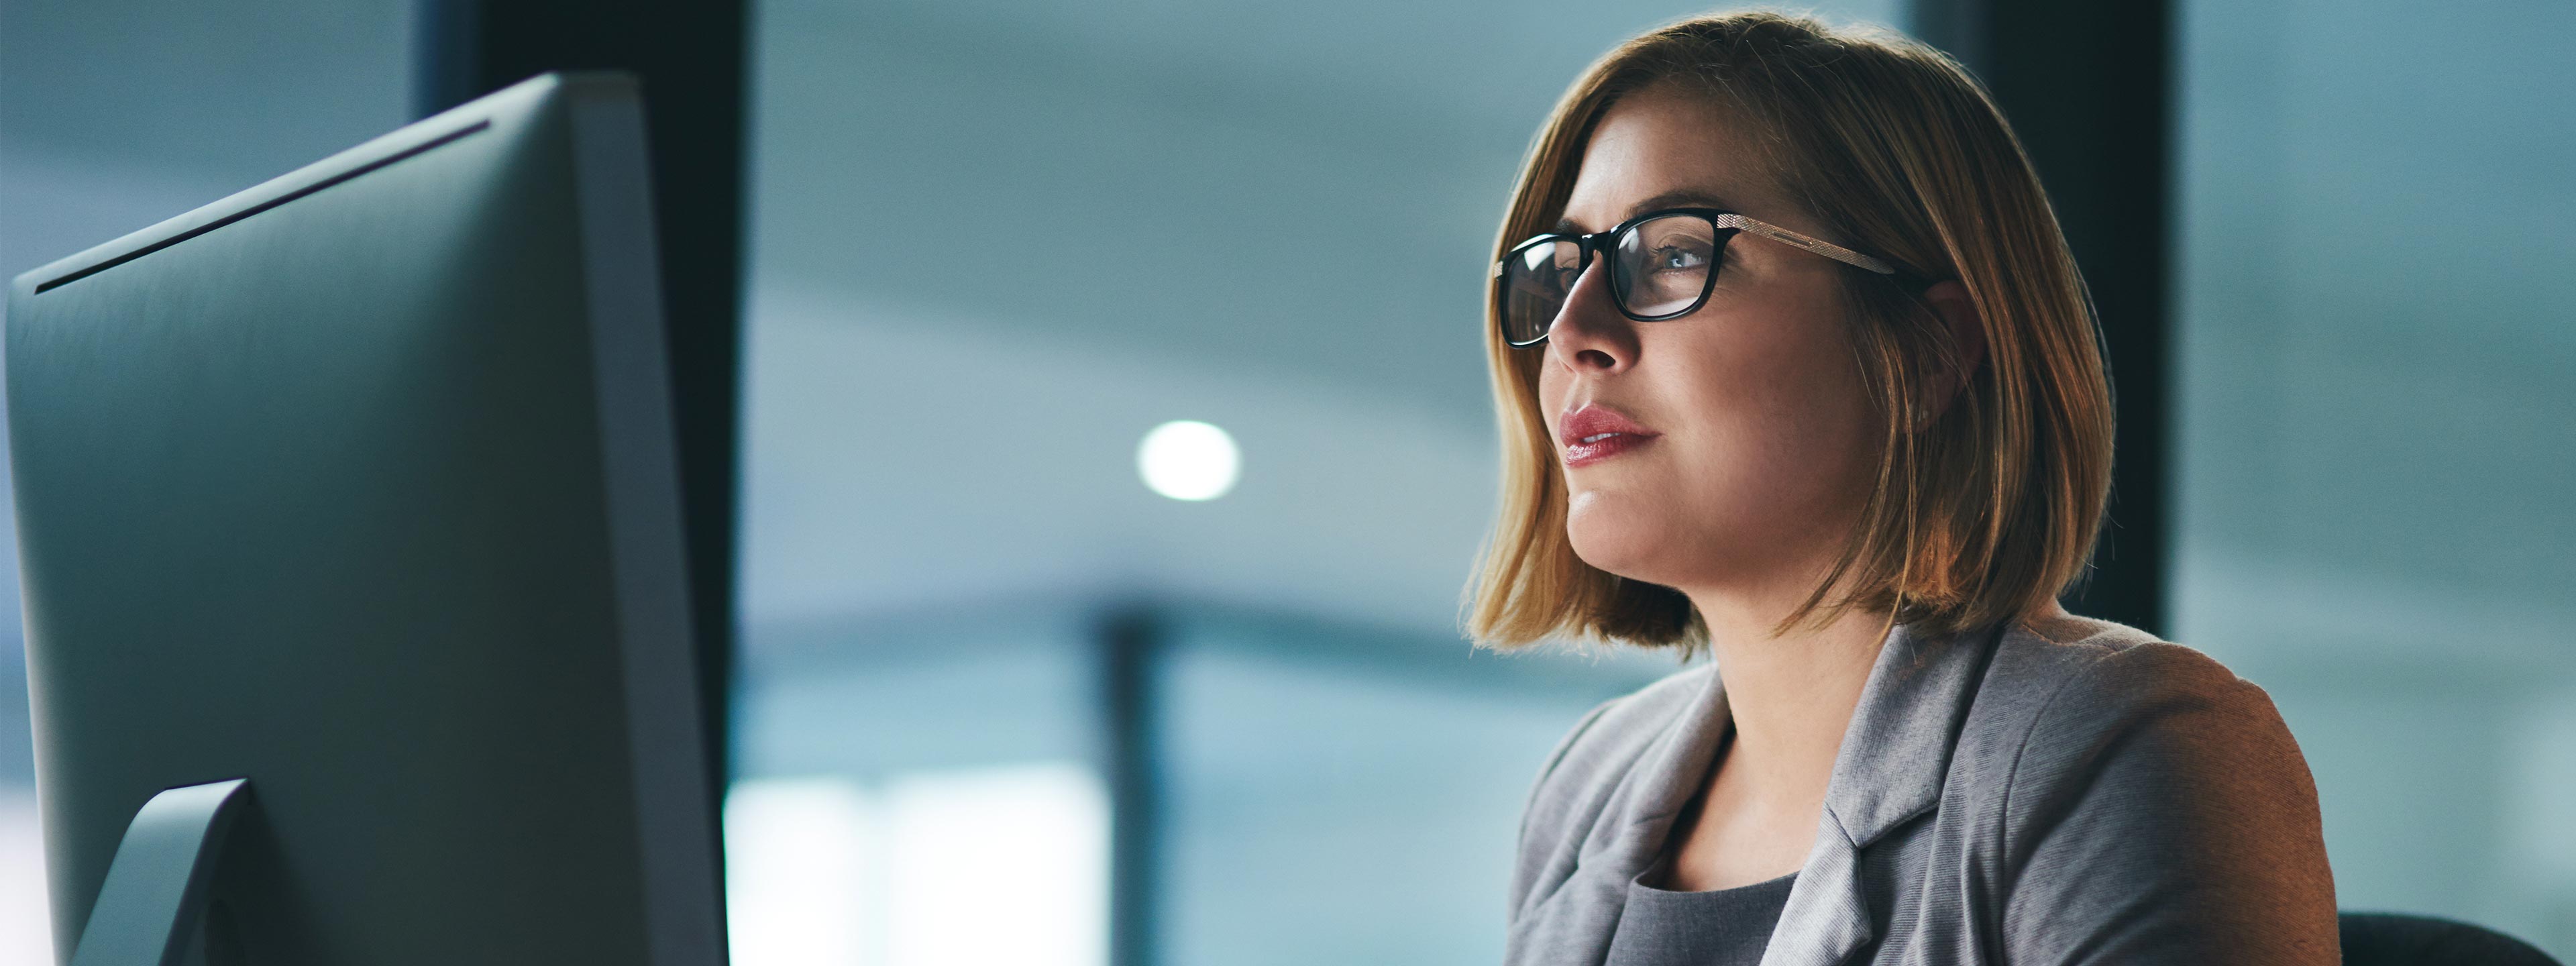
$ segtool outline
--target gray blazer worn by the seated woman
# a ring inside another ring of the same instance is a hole
[[[1595,708],[1520,824],[1504,961],[1602,963],[1726,732],[1713,665]],[[1899,626],[1765,966],[2339,963],[2316,786],[2210,657],[2053,616]]]

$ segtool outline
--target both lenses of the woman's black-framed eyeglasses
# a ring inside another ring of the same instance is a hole
[[[1723,232],[1734,234],[1734,232]],[[1726,242],[1695,214],[1646,219],[1610,240],[1610,291],[1638,319],[1690,312],[1708,294]],[[1520,247],[1502,265],[1502,335],[1512,345],[1548,337],[1566,294],[1582,276],[1582,245],[1548,240]]]

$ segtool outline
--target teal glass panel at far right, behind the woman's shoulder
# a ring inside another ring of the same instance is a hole
[[[2576,8],[2184,3],[2177,636],[2347,909],[2576,958]]]

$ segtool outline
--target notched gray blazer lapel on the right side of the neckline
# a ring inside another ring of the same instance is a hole
[[[1958,724],[2002,629],[1922,639],[1896,626],[1834,752],[1816,845],[1790,886],[1762,966],[1832,966],[1875,940],[1860,850],[1940,804]]]

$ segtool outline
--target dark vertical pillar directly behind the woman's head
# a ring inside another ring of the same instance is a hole
[[[1994,90],[2102,317],[2120,456],[2092,580],[2066,605],[2169,631],[2174,5],[1917,0],[1914,23]]]

